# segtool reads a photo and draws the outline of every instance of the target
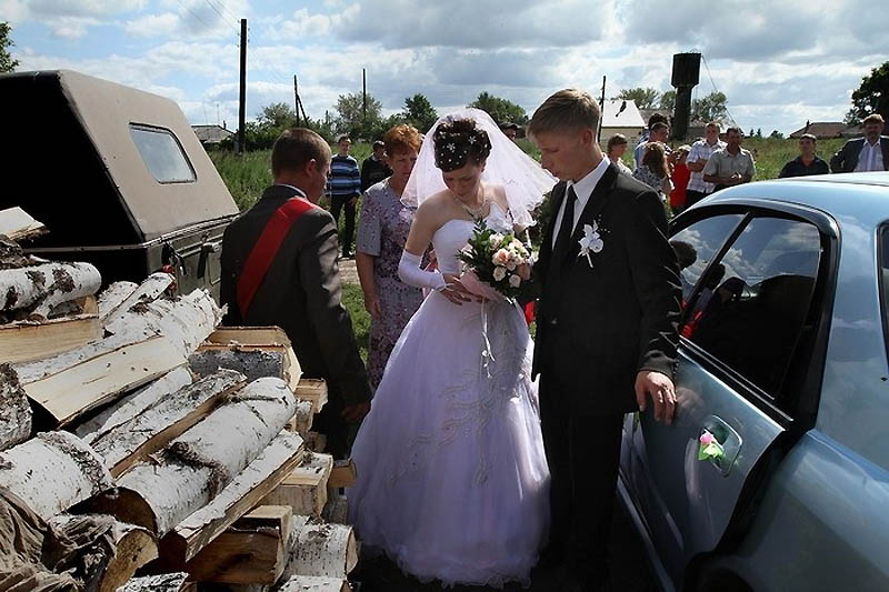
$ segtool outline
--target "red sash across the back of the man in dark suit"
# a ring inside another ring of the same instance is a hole
[[[284,237],[290,232],[290,227],[299,220],[299,217],[314,208],[314,204],[306,198],[294,195],[287,200],[283,205],[274,210],[271,218],[262,229],[259,240],[253,245],[253,250],[247,257],[247,262],[241,270],[238,279],[238,310],[241,320],[247,317],[250,303],[253,301],[259,284],[262,283],[266,273],[274,261]]]

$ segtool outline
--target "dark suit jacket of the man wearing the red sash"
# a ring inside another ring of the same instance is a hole
[[[250,309],[238,310],[236,287],[243,263],[272,213],[294,195],[291,188],[272,185],[226,230],[220,287],[221,301],[229,307],[224,322],[278,325],[287,332],[303,375],[327,380],[329,402],[314,428],[327,435],[330,452],[343,456],[347,425],[340,413],[370,400],[370,385],[340,302],[337,227],[329,212],[312,208],[293,223]]]

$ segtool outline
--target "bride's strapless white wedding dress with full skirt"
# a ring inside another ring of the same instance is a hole
[[[508,232],[497,205],[488,227]],[[433,235],[442,273],[472,222]],[[364,545],[421,580],[528,582],[549,525],[549,472],[521,311],[433,292],[406,327],[352,449],[349,516]],[[487,360],[487,367],[486,367]]]

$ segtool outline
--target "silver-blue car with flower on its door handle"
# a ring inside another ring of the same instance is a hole
[[[671,425],[619,493],[666,590],[889,590],[889,173],[719,192],[671,223]]]

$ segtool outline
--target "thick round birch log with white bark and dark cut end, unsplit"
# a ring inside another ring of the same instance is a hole
[[[118,480],[99,500],[119,520],[162,536],[207,505],[283,429],[296,400],[280,379],[251,382],[202,422]]]

